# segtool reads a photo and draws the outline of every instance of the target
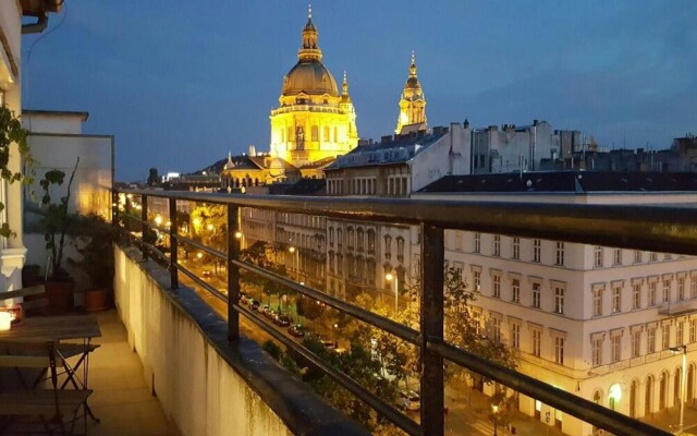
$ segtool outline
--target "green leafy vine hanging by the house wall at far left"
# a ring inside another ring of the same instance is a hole
[[[32,174],[32,168],[34,166],[34,159],[29,152],[27,144],[27,136],[29,131],[22,128],[22,123],[15,117],[7,106],[0,106],[0,178],[8,183],[23,183],[28,184],[34,181]],[[15,152],[16,147],[16,152]],[[13,153],[19,153],[21,159],[24,161],[24,166],[28,175],[23,174],[21,171],[13,171],[9,168],[10,156]],[[0,211],[5,208],[4,203],[0,202]],[[10,225],[3,222],[0,226],[0,237],[10,238],[16,233],[10,228]]]

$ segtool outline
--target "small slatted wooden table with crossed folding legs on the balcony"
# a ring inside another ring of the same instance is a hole
[[[22,324],[12,326],[8,331],[0,331],[0,349],[1,343],[27,343],[27,342],[47,342],[54,341],[58,354],[61,352],[62,340],[82,340],[82,343],[63,344],[64,349],[70,350],[69,353],[60,355],[65,365],[65,373],[68,379],[61,385],[61,389],[64,389],[69,383],[78,389],[75,382],[75,373],[83,365],[83,378],[82,388],[87,389],[87,376],[89,371],[89,353],[95,349],[95,346],[90,344],[91,338],[98,338],[101,336],[99,330],[99,324],[97,317],[94,315],[71,315],[71,316],[37,316],[25,317]],[[1,350],[0,350],[1,352]],[[80,355],[77,362],[71,366],[65,359],[74,355]],[[93,420],[99,421],[91,413],[91,410],[85,404],[87,413]]]

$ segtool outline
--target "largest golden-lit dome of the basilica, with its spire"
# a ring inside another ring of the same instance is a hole
[[[348,153],[358,143],[346,76],[340,92],[322,63],[318,36],[310,9],[297,63],[283,77],[279,107],[269,117],[271,155],[298,168]]]

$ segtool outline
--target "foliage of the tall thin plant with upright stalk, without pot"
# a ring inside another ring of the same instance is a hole
[[[80,157],[75,161],[75,168],[73,168],[73,172],[70,175],[66,194],[60,197],[58,203],[51,203],[50,187],[51,185],[62,185],[65,180],[65,173],[61,170],[49,170],[44,174],[44,179],[39,181],[44,190],[41,207],[46,207],[46,215],[41,220],[44,240],[46,241],[46,250],[50,253],[51,277],[57,280],[69,278],[68,271],[63,268],[63,251],[65,249],[65,233],[74,220],[74,217],[68,213],[68,206],[71,195],[70,190],[78,164]]]

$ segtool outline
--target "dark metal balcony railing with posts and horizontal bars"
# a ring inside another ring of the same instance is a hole
[[[156,228],[170,237],[167,256],[170,265],[171,286],[179,286],[179,274],[188,276],[201,288],[228,303],[229,340],[240,337],[240,315],[247,317],[259,328],[294,350],[319,367],[353,395],[372,407],[396,426],[411,435],[442,435],[444,431],[443,362],[449,361],[476,372],[554,409],[568,413],[596,427],[617,435],[668,435],[669,433],[607,409],[595,402],[568,393],[536,378],[500,366],[479,355],[455,348],[443,340],[443,269],[429,267],[443,265],[444,229],[469,230],[531,239],[576,242],[590,245],[615,246],[688,255],[697,255],[697,209],[664,206],[607,206],[607,205],[552,205],[521,203],[485,203],[453,201],[366,199],[337,197],[284,197],[252,196],[188,192],[114,191],[114,205],[119,194],[140,196],[140,217],[133,214],[126,201],[125,217],[114,208],[114,222],[123,220],[126,234],[139,221],[143,228]],[[147,198],[169,199],[169,227],[148,222]],[[228,208],[228,251],[221,252],[178,234],[178,201],[225,205]],[[250,207],[285,213],[319,215],[339,219],[400,222],[420,227],[420,326],[413,329],[387,317],[357,307],[343,300],[305,287],[286,277],[240,261],[239,229],[240,208]],[[124,219],[125,218],[125,219]],[[156,249],[142,241],[144,258]],[[178,244],[186,243],[211,256],[223,259],[228,268],[228,295],[178,262]],[[255,313],[240,304],[240,268],[274,280],[303,295],[310,296],[356,319],[378,327],[414,346],[420,351],[421,408],[420,424],[400,413],[392,404],[320,360],[299,343],[291,340]]]

